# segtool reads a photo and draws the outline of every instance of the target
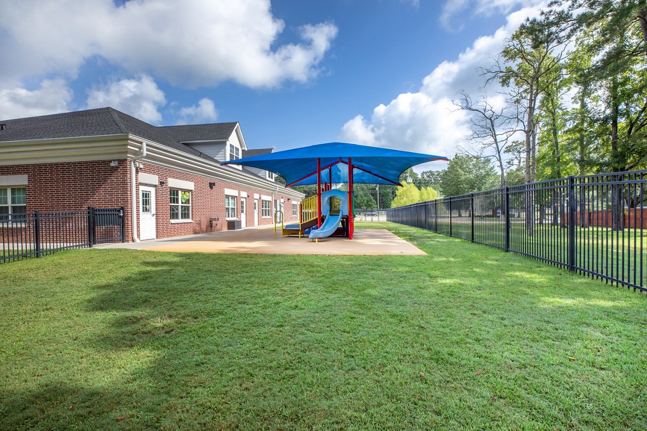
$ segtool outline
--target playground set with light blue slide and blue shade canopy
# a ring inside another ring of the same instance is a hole
[[[279,174],[287,183],[285,187],[316,184],[316,196],[300,204],[299,223],[281,226],[281,236],[308,235],[317,241],[331,235],[353,239],[355,182],[401,186],[399,177],[406,169],[433,160],[448,159],[416,152],[329,142],[230,160],[223,162],[223,165],[236,163]],[[333,184],[347,184],[347,191],[333,189]]]

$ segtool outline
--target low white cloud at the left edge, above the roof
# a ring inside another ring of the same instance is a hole
[[[61,78],[43,79],[36,90],[19,86],[0,89],[0,118],[8,120],[66,112],[71,100],[72,89]]]

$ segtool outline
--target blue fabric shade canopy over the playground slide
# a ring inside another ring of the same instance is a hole
[[[433,160],[448,160],[418,152],[367,147],[355,143],[329,142],[310,147],[259,154],[223,162],[257,167],[279,174],[287,185],[317,184],[317,158],[321,159],[321,182],[348,182],[348,158],[353,164],[353,182],[400,185],[399,177],[411,166]]]

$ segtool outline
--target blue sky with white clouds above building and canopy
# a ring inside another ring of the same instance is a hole
[[[477,96],[476,68],[539,5],[10,1],[0,118],[109,105],[155,125],[240,121],[252,148],[344,140],[451,157],[467,133],[456,92]]]

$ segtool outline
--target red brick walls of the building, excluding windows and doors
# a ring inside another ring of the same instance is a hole
[[[27,211],[67,211],[85,209],[88,206],[126,208],[126,241],[132,241],[130,212],[130,162],[119,160],[118,167],[111,167],[110,160],[95,162],[41,163],[36,165],[0,166],[0,175],[28,174]],[[173,169],[144,163],[138,173],[155,174],[164,185],[155,186],[155,217],[157,238],[192,235],[227,229],[225,217],[225,188],[247,192],[247,227],[254,226],[254,194],[272,196],[271,192],[242,187],[211,178],[183,173]],[[192,191],[192,222],[170,221],[170,195],[168,178],[190,181]],[[210,182],[215,182],[213,188]],[[137,189],[137,209],[139,208]],[[283,199],[285,222],[298,222],[292,216],[292,200],[289,196],[274,193],[274,199]],[[272,202],[273,208],[274,202]],[[236,215],[240,218],[241,196],[236,198]],[[274,213],[272,211],[272,213]],[[219,218],[210,222],[210,218]],[[137,210],[137,218],[139,211]],[[261,199],[258,202],[258,225],[271,225],[272,218],[261,215]]]

